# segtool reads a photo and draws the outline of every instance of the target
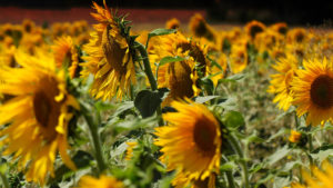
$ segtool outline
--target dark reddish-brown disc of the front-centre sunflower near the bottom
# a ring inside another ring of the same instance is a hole
[[[203,151],[214,151],[215,126],[204,120],[199,120],[194,126],[194,142]]]

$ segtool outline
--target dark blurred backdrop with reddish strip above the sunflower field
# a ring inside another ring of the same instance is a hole
[[[0,0],[0,22],[21,22],[24,18],[37,23],[88,20],[91,0]],[[102,4],[102,0],[97,0]],[[332,27],[333,1],[300,0],[107,0],[120,13],[129,13],[134,23],[159,23],[170,18],[188,22],[194,12],[210,23],[243,24],[260,20],[266,24],[285,21],[293,26]]]

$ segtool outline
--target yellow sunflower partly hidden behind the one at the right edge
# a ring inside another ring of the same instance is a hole
[[[276,95],[273,102],[279,102],[279,109],[286,111],[293,101],[291,83],[297,70],[297,58],[287,53],[286,58],[279,59],[272,67],[279,73],[271,76],[271,86],[275,89],[268,91]]]

